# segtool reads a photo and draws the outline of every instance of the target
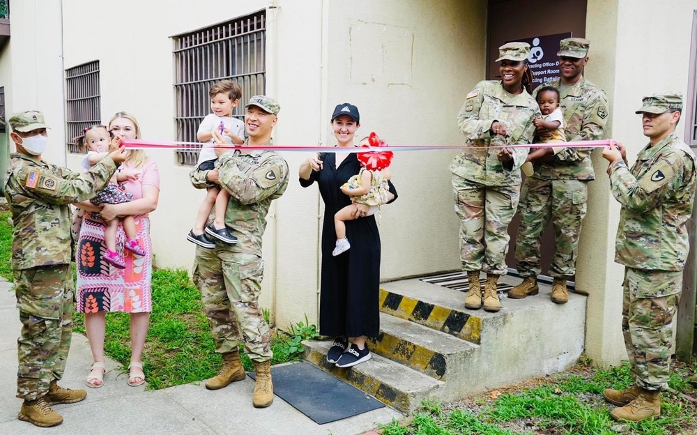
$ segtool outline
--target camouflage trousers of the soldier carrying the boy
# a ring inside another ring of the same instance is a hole
[[[259,308],[263,260],[250,254],[197,247],[192,275],[201,291],[215,351],[236,350],[241,335],[253,361],[270,360],[270,332]]]

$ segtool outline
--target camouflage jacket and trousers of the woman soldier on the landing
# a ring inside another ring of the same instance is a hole
[[[464,148],[450,164],[455,213],[461,222],[462,270],[506,273],[508,224],[518,206],[520,167],[528,148],[514,148],[513,167],[505,169],[498,160],[500,148],[489,146],[530,144],[536,116],[540,116],[539,107],[529,93],[513,96],[498,81],[479,82],[457,115],[465,146],[476,147]],[[505,138],[492,137],[493,121],[505,124]]]

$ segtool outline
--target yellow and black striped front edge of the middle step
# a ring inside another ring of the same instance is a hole
[[[371,342],[370,349],[378,355],[443,381],[446,367],[445,356],[442,353],[431,351],[382,331],[377,339],[369,339],[369,341]]]

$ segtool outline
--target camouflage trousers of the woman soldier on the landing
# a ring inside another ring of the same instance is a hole
[[[520,186],[485,186],[453,175],[452,188],[460,218],[462,270],[505,275],[508,224],[516,213]]]

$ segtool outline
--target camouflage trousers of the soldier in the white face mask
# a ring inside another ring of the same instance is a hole
[[[43,397],[63,377],[75,302],[69,264],[13,270],[22,330],[17,339],[17,397]]]

